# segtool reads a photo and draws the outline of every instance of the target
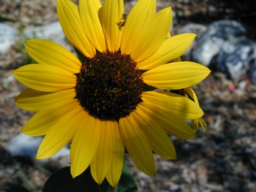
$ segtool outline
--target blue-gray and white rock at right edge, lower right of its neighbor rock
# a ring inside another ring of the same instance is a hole
[[[256,42],[245,37],[226,41],[217,55],[218,71],[238,82],[248,76],[256,59]]]

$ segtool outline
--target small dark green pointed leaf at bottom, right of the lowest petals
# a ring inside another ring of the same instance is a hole
[[[119,180],[116,192],[137,192],[138,187],[136,186],[134,179],[129,171],[128,166],[124,162],[122,175]]]

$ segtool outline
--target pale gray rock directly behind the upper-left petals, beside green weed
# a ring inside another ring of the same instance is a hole
[[[66,40],[64,32],[61,29],[61,25],[58,21],[50,23],[45,26],[38,26],[33,28],[28,28],[24,30],[24,37],[27,39],[47,39],[54,41],[64,47],[69,47],[69,43]]]

